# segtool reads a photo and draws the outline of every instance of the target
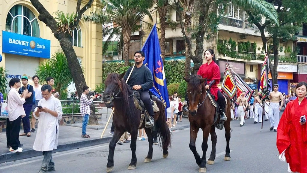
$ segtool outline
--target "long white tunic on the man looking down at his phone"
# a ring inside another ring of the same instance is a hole
[[[35,116],[37,107],[34,110],[34,117],[38,119],[37,134],[33,145],[33,150],[36,151],[52,151],[57,148],[59,139],[59,120],[62,119],[63,111],[62,104],[59,99],[53,95],[46,100],[41,99],[38,106],[46,107],[52,111],[56,111],[58,116],[54,117],[49,113],[40,112],[40,116]],[[57,128],[57,133],[56,133]]]

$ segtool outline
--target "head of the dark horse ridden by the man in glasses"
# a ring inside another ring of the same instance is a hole
[[[105,90],[103,92],[103,101],[106,104],[110,104],[114,98],[116,98],[122,91],[122,78],[125,72],[122,74],[110,73],[105,81]]]

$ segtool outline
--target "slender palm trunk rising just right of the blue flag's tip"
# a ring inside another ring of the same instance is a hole
[[[161,56],[164,62],[165,58],[165,15],[166,15],[166,6],[158,6],[159,18],[160,18],[160,47],[161,47]]]

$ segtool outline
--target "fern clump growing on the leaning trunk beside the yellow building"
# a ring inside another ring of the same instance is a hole
[[[76,18],[78,17],[78,14],[72,12],[72,14],[69,15],[68,13],[65,14],[63,11],[59,10],[53,12],[53,14],[56,15],[54,19],[56,20],[56,26],[58,27],[57,31],[72,34],[74,29],[72,25],[77,21]]]

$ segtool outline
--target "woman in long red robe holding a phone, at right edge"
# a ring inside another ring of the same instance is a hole
[[[288,103],[277,128],[279,159],[289,172],[307,172],[306,90],[306,82],[297,84],[297,99]]]

